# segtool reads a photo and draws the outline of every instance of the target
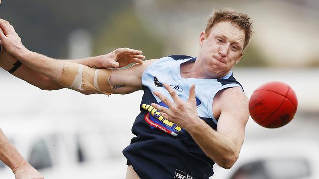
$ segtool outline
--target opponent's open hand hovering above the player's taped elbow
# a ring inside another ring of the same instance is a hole
[[[133,50],[130,48],[118,48],[111,53],[102,55],[103,68],[121,68],[131,63],[143,63],[145,56],[141,50]]]

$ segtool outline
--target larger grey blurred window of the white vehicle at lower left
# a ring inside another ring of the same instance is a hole
[[[39,140],[32,147],[29,163],[37,170],[52,166],[50,153],[44,140]]]

